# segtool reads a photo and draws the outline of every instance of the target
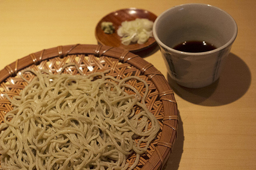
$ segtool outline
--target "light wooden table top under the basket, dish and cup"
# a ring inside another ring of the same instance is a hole
[[[0,0],[0,69],[42,49],[96,44],[96,24],[112,11],[136,7],[158,16],[191,2],[228,12],[238,24],[238,36],[220,79],[202,89],[173,82],[159,50],[144,57],[170,82],[180,113],[165,170],[256,169],[255,0]]]

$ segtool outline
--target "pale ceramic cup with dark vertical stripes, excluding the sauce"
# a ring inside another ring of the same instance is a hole
[[[153,25],[168,73],[178,84],[200,88],[220,76],[224,61],[236,39],[237,25],[225,11],[207,4],[183,4],[160,14]],[[183,52],[174,46],[188,41],[212,43],[216,49]]]

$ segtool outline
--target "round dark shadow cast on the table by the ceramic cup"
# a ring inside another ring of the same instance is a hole
[[[168,82],[175,93],[186,101],[197,105],[219,106],[238,100],[248,91],[251,72],[240,57],[230,53],[220,78],[212,85],[190,89],[178,85],[170,76]]]

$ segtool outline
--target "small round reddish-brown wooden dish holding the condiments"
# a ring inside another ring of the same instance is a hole
[[[152,45],[154,45],[154,43],[156,43],[156,40],[154,38],[149,38],[148,41],[144,44],[132,43],[130,45],[123,45],[121,43],[121,38],[116,33],[116,30],[121,26],[122,22],[132,21],[136,18],[146,18],[154,22],[157,16],[147,10],[137,8],[127,8],[112,12],[104,16],[96,26],[95,35],[98,43],[111,47],[119,47],[130,52],[138,52],[148,47],[151,47]],[[115,32],[113,34],[105,34],[101,29],[102,22],[112,22],[113,26],[115,27]]]

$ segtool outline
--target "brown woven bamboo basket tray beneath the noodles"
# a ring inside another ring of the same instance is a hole
[[[32,53],[7,65],[0,71],[0,123],[3,122],[4,115],[12,110],[12,105],[3,94],[18,95],[26,86],[18,75],[19,71],[30,68],[48,69],[54,72],[66,63],[76,63],[83,68],[85,74],[108,70],[109,75],[117,79],[136,75],[147,81],[150,93],[146,105],[158,119],[161,128],[135,169],[162,169],[172,152],[177,136],[178,111],[174,93],[162,73],[151,63],[124,49],[102,45],[65,45]],[[67,70],[67,73],[76,74],[77,71]],[[140,92],[143,94],[143,89]],[[133,156],[127,159],[130,164],[133,161]]]

